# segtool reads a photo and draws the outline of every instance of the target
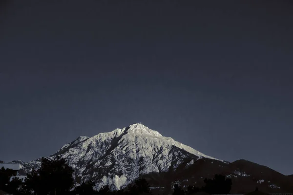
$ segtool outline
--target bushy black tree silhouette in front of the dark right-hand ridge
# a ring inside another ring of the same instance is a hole
[[[213,179],[204,179],[206,186],[202,188],[206,193],[213,194],[229,194],[231,190],[232,181],[222,175],[215,175]]]

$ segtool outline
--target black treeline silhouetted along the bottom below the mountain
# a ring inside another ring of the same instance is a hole
[[[92,181],[74,186],[73,169],[65,159],[57,157],[54,160],[42,158],[41,168],[32,170],[27,175],[25,182],[16,176],[16,171],[0,169],[0,190],[13,195],[140,195],[150,194],[149,185],[144,178],[135,180],[132,185],[123,190],[110,191],[109,186],[104,186],[99,191],[94,190],[95,183]],[[205,186],[198,188],[188,186],[184,190],[179,185],[174,185],[173,195],[191,195],[204,191],[209,194],[229,194],[231,180],[225,176],[215,175],[213,179],[205,179]]]

